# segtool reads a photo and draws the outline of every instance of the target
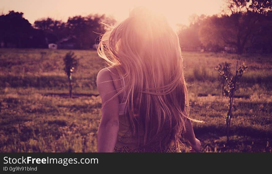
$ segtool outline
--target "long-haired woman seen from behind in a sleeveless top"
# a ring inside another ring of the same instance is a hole
[[[164,16],[134,8],[102,36],[98,55],[109,65],[97,75],[98,152],[181,152],[181,134],[200,150],[179,39]]]

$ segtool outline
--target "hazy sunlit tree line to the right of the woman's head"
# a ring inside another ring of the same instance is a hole
[[[227,0],[221,14],[193,15],[189,26],[180,25],[181,48],[271,53],[271,10],[272,1]]]

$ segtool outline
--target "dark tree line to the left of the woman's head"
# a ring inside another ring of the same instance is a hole
[[[67,22],[42,18],[31,25],[22,12],[9,11],[0,16],[1,47],[48,48],[49,43],[74,38],[74,49],[89,49],[107,28],[116,21],[105,14],[69,17]]]

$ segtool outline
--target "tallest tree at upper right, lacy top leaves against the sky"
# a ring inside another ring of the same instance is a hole
[[[206,18],[200,28],[204,45],[219,43],[235,47],[238,54],[261,33],[264,16],[271,11],[272,2],[263,0],[228,0],[222,15]]]

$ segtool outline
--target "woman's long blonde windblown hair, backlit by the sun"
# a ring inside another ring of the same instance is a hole
[[[188,117],[179,38],[164,16],[134,8],[100,38],[97,51],[125,79],[114,97],[127,91],[128,117],[138,145],[159,141],[163,147],[173,140],[177,147],[186,131],[185,119],[193,119]]]

